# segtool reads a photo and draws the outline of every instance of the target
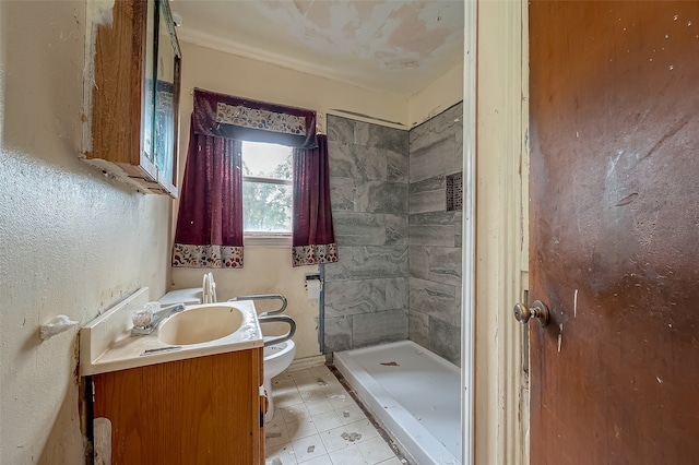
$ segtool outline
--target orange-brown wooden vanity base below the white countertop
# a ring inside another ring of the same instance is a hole
[[[262,349],[157,363],[93,377],[95,425],[109,420],[110,450],[95,463],[264,463]]]

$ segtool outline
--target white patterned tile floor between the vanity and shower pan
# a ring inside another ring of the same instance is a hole
[[[404,465],[328,367],[272,380],[266,465]]]

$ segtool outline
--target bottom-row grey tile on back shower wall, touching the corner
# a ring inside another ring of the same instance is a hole
[[[407,339],[407,312],[404,310],[356,314],[352,322],[355,348]]]

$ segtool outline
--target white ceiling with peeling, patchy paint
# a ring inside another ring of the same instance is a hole
[[[180,40],[395,95],[463,61],[463,0],[171,0]]]

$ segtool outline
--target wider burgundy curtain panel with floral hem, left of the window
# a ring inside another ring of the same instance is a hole
[[[241,166],[239,141],[197,134],[191,124],[173,266],[242,267]]]

